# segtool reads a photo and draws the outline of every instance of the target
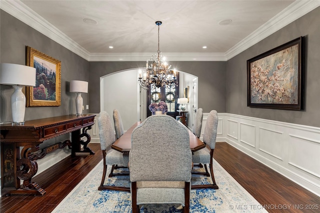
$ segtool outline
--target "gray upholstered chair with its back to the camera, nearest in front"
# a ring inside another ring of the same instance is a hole
[[[192,170],[188,130],[168,115],[152,115],[131,137],[132,213],[142,204],[178,204],[189,212]]]

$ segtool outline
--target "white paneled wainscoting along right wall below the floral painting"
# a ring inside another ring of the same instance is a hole
[[[320,128],[229,113],[218,117],[223,131],[217,142],[226,141],[320,196]]]

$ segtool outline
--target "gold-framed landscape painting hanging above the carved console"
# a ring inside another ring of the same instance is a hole
[[[61,62],[27,46],[26,64],[35,68],[35,86],[26,87],[26,106],[60,106]]]

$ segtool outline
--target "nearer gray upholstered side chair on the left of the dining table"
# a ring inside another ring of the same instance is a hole
[[[121,152],[111,149],[111,145],[115,141],[115,137],[114,137],[111,119],[107,112],[105,111],[100,112],[98,117],[98,127],[99,127],[100,146],[103,154],[103,174],[102,174],[101,184],[98,187],[98,190],[118,190],[118,191],[130,192],[130,188],[128,187],[116,187],[116,186],[103,185],[105,180],[107,165],[112,166],[111,172],[113,172],[114,165],[118,164],[118,165],[127,166],[129,162],[129,157],[127,155],[123,155]],[[128,173],[125,175],[128,175]]]

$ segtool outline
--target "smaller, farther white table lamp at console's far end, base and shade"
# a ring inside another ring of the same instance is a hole
[[[88,82],[77,81],[77,80],[70,81],[70,92],[76,92],[77,94],[75,98],[76,115],[82,115],[83,99],[81,97],[81,93],[88,92]]]

